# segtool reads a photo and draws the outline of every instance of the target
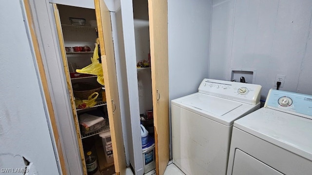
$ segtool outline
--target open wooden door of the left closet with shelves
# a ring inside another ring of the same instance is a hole
[[[114,152],[115,172],[116,175],[120,174],[125,175],[126,157],[120,117],[119,96],[117,89],[118,88],[116,76],[117,72],[116,72],[116,62],[112,36],[111,14],[103,0],[94,0],[94,2],[98,23],[98,37],[103,67],[103,77],[106,87],[105,92],[106,98],[108,99],[107,110]],[[105,22],[105,25],[103,25],[104,24],[103,21]],[[112,69],[115,72],[109,72],[108,66],[113,66],[110,67],[110,69]],[[115,73],[115,77],[112,77],[112,73]],[[115,107],[113,107],[113,102]]]

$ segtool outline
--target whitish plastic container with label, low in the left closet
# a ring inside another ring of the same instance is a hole
[[[113,146],[112,146],[112,139],[111,139],[110,130],[108,130],[104,133],[101,133],[98,136],[102,138],[102,144],[103,144],[105,159],[106,159],[107,163],[113,163],[114,162],[114,155],[113,155]]]

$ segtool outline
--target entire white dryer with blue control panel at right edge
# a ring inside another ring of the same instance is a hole
[[[312,175],[312,96],[271,89],[235,121],[227,175]]]

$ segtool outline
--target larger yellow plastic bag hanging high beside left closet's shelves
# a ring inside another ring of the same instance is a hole
[[[104,78],[103,78],[103,69],[102,64],[98,62],[98,44],[96,43],[96,47],[94,49],[93,57],[91,57],[91,64],[80,69],[76,70],[78,73],[87,73],[98,76],[98,83],[104,86]]]

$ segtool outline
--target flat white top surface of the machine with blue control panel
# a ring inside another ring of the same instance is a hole
[[[260,108],[234,122],[234,127],[312,160],[312,120]]]

